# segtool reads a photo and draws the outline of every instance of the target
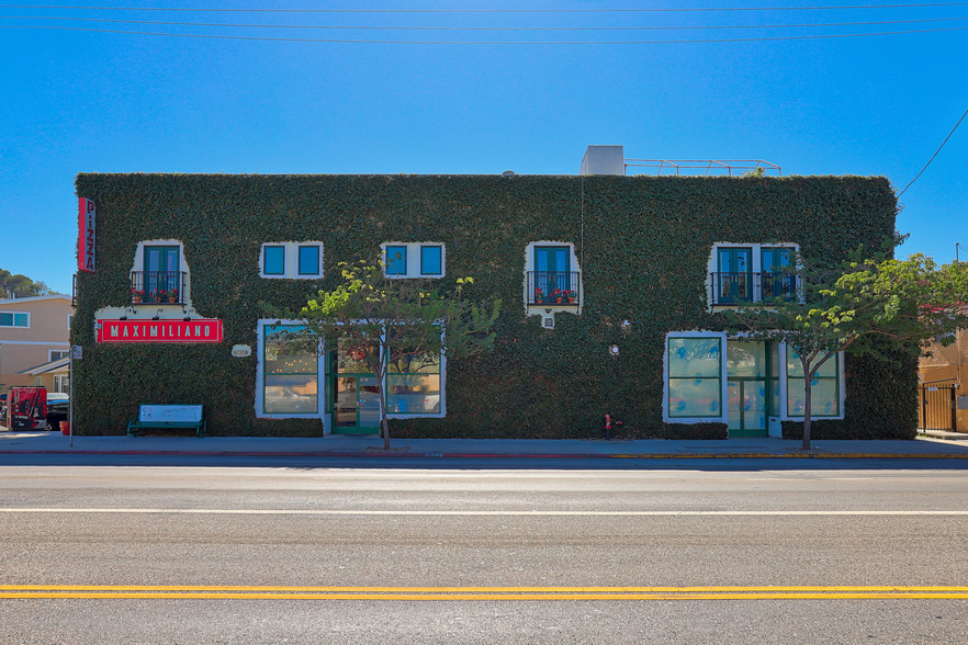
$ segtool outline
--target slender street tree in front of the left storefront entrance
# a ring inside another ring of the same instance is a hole
[[[500,302],[468,299],[472,278],[460,278],[444,290],[441,280],[387,278],[379,260],[340,262],[339,269],[342,282],[319,291],[297,318],[305,320],[306,342],[341,348],[373,374],[389,449],[387,372],[418,372],[441,357],[453,360],[491,350]]]

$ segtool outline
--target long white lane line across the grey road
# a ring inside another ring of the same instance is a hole
[[[790,517],[790,516],[963,516],[968,510],[740,510],[740,511],[548,511],[548,510],[338,510],[210,508],[0,508],[4,513],[115,513],[212,516],[544,516],[544,517]]]

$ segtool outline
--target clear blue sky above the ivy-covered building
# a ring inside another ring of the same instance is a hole
[[[886,176],[900,191],[968,110],[968,2],[903,8],[871,3],[860,9],[834,8],[852,3],[832,0],[790,4],[824,9],[465,11],[781,7],[776,0],[272,4],[464,10],[455,13],[3,5],[0,268],[69,292],[78,172],[575,174],[587,145],[621,144],[633,158],[765,159],[779,165],[784,174]],[[268,4],[130,0],[119,5]],[[529,29],[268,29],[54,20],[67,18]],[[875,22],[890,24],[709,29]],[[618,29],[655,26],[704,29]],[[949,31],[697,42],[922,30]],[[900,254],[925,252],[947,263],[955,258],[956,241],[968,245],[968,118],[901,203],[898,228],[911,238]],[[960,258],[968,259],[968,247],[963,246]]]

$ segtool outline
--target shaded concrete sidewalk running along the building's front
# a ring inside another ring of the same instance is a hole
[[[59,432],[0,430],[0,454],[182,454],[249,456],[380,457],[554,457],[554,459],[968,459],[968,442],[919,438],[913,441],[605,441],[578,439],[392,439],[330,434],[279,437],[75,437]]]

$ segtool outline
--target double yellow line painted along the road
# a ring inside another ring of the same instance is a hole
[[[0,585],[0,599],[965,600],[968,587],[229,587]]]

